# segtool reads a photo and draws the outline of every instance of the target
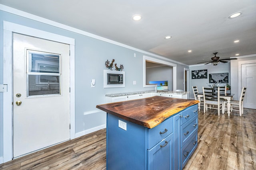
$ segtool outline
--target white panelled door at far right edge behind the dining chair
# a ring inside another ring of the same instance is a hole
[[[256,63],[242,64],[241,74],[242,87],[247,87],[244,96],[244,107],[256,109]]]

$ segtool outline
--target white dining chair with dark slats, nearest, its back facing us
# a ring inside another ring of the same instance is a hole
[[[220,87],[218,87],[217,92],[212,88],[204,88],[203,87],[203,97],[204,97],[204,113],[207,109],[217,109],[218,116],[220,116],[220,111],[222,114],[225,112],[225,104],[224,99],[220,98]]]

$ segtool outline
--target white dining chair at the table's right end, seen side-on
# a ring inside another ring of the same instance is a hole
[[[244,114],[243,100],[244,100],[246,88],[247,87],[242,88],[239,100],[230,100],[230,112],[235,110],[235,111],[239,111],[240,116],[242,116],[242,114]]]

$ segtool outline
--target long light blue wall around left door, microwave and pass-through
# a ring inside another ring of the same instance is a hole
[[[4,20],[75,39],[75,133],[105,124],[105,113],[86,114],[92,110],[96,110],[97,104],[103,104],[106,102],[105,94],[154,90],[154,88],[143,88],[143,55],[146,54],[45,23],[23,18],[8,12],[3,12],[1,10],[0,84],[4,83],[2,53]],[[134,53],[136,53],[136,57],[134,57]],[[103,88],[103,70],[106,69],[105,61],[107,59],[115,59],[115,63],[118,65],[124,65],[123,71],[125,71],[125,88]],[[185,67],[188,68],[187,66]],[[180,70],[177,71],[177,87],[180,84],[183,85],[183,69],[183,65],[177,64],[177,70]],[[91,79],[96,80],[95,88],[91,88],[90,86]],[[136,85],[133,85],[134,80],[136,80]],[[0,157],[3,155],[2,94],[3,93],[0,93]]]

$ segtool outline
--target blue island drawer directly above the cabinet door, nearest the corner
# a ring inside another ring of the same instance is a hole
[[[157,125],[152,129],[147,129],[147,135],[148,135],[147,149],[151,149],[152,147],[154,147],[157,143],[162,141],[172,132],[173,132],[173,117],[166,119],[160,125]]]

